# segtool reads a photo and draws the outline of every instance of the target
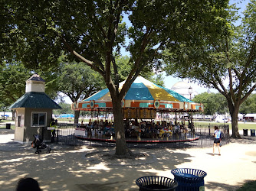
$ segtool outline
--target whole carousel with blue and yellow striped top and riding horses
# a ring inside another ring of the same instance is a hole
[[[123,83],[120,83],[120,89]],[[190,114],[202,112],[203,105],[192,102],[171,89],[151,83],[142,76],[138,76],[130,86],[122,100],[122,107],[127,143],[156,144],[199,139],[193,131]],[[90,118],[88,124],[82,122],[76,128],[76,138],[115,142],[112,100],[108,89],[103,89],[81,102],[74,102],[72,109],[97,114],[96,118]],[[179,121],[178,115],[182,115]]]

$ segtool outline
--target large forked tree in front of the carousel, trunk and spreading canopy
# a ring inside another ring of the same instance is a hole
[[[228,1],[97,0],[34,2],[2,0],[0,25],[9,46],[21,60],[51,66],[61,50],[103,76],[113,100],[116,154],[130,155],[126,147],[121,102],[145,66],[160,66],[162,50],[172,44],[211,34],[212,21],[222,17]],[[123,15],[129,15],[128,29]],[[215,28],[222,28],[222,23]],[[16,35],[14,35],[16,34]],[[126,46],[125,39],[129,38]],[[10,40],[11,39],[11,40]],[[15,43],[13,43],[15,42]],[[120,47],[130,52],[130,66],[122,89],[115,57]],[[7,55],[3,55],[5,59]],[[31,58],[31,59],[28,59]]]

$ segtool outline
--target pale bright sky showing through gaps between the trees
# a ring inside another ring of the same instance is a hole
[[[237,3],[237,6],[239,8],[241,8],[239,10],[239,14],[241,14],[242,11],[245,10],[246,8],[246,5],[248,4],[248,2],[250,2],[250,0],[231,0],[230,1],[230,4],[234,4],[234,3]],[[124,15],[124,18],[123,18],[123,21],[126,22],[126,25],[129,27],[131,26],[131,23],[128,19],[128,15]],[[240,22],[238,21],[238,24]],[[128,42],[129,39],[126,38],[126,42]],[[121,54],[124,56],[124,55],[129,55],[129,53],[126,52],[126,50],[124,48],[121,48]],[[184,81],[186,83],[189,83],[189,80],[188,79],[179,79],[179,78],[175,78],[175,77],[172,77],[172,76],[166,76],[164,75],[164,84],[165,84],[165,87],[167,89],[172,89],[172,86],[175,84],[175,83],[178,83],[179,81]],[[196,84],[196,83],[189,83],[189,85],[192,87],[192,91],[196,91],[198,92],[199,94],[202,93],[202,92],[207,92],[208,89],[207,88],[204,88],[202,86],[199,86],[199,84]],[[216,89],[209,89],[210,92],[218,92]],[[71,103],[71,99],[69,99],[68,97],[65,98],[65,102],[67,103]]]

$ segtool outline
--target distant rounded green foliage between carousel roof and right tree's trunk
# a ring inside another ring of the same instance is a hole
[[[221,93],[203,92],[195,95],[193,102],[202,103],[204,105],[205,115],[225,114],[228,112],[228,103]]]

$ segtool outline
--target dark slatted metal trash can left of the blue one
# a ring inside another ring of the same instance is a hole
[[[146,190],[176,190],[176,180],[163,176],[143,176],[136,180],[140,191]]]

